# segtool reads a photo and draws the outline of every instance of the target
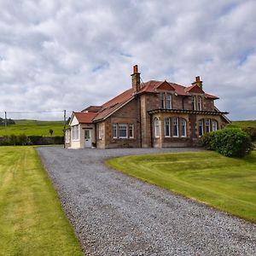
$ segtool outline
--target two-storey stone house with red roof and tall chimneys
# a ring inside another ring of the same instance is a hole
[[[131,89],[102,104],[74,112],[67,148],[169,148],[194,146],[230,120],[214,106],[217,96],[203,90],[200,77],[190,86],[141,82],[137,65]]]

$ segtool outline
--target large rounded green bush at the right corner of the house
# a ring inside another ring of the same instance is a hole
[[[243,157],[252,150],[251,138],[241,129],[224,129],[206,133],[201,143],[208,149],[230,157]]]

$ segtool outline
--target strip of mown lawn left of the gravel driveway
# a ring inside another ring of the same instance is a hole
[[[32,147],[0,148],[0,255],[83,255]]]

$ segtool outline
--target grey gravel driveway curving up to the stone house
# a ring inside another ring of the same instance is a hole
[[[256,255],[256,225],[104,166],[193,148],[38,148],[86,255]]]

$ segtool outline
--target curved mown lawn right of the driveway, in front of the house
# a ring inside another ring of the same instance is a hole
[[[256,223],[256,151],[244,159],[206,151],[125,156],[107,164]]]

